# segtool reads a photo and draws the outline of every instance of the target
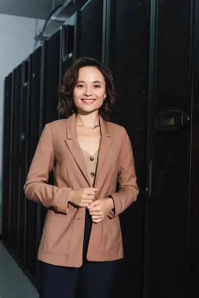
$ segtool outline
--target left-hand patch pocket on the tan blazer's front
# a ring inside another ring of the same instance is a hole
[[[69,252],[71,221],[67,216],[50,215],[44,236],[44,251],[49,254],[65,256]]]

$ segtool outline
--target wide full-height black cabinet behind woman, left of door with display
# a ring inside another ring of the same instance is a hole
[[[149,11],[148,1],[104,1],[102,59],[113,71],[118,94],[112,121],[124,126],[130,137],[140,189],[137,201],[120,215],[124,258],[119,262],[114,298],[143,295]]]

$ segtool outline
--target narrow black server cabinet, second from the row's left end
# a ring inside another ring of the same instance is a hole
[[[11,230],[10,248],[18,255],[18,188],[19,188],[19,145],[20,145],[20,104],[21,104],[21,65],[13,71],[13,112],[12,112],[12,173],[11,173]]]

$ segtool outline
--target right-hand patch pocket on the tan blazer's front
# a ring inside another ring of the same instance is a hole
[[[106,217],[101,224],[102,249],[104,251],[117,251],[122,242],[119,217],[117,216],[111,220]]]

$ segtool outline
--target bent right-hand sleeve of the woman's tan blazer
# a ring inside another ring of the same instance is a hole
[[[139,193],[131,142],[126,130],[123,128],[122,146],[119,157],[118,173],[119,191],[109,194],[114,201],[114,212],[108,217],[114,218],[135,202]]]

